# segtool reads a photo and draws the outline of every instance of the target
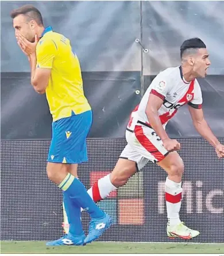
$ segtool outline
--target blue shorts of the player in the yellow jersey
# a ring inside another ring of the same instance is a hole
[[[48,162],[79,164],[88,161],[86,137],[91,125],[91,110],[53,122]]]

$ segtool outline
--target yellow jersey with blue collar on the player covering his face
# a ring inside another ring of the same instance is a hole
[[[84,96],[79,59],[69,40],[45,28],[36,48],[37,68],[51,69],[45,90],[53,122],[91,110]]]

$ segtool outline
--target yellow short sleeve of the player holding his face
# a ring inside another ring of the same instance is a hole
[[[56,43],[51,39],[41,39],[37,44],[37,67],[52,69],[53,59],[57,54]]]

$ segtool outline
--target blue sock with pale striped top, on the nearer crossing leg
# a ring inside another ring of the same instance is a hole
[[[98,208],[87,193],[83,183],[76,179],[75,176],[68,174],[63,182],[60,183],[59,187],[64,190],[64,194],[69,195],[72,202],[85,209],[93,219],[102,218],[104,216],[105,213]]]

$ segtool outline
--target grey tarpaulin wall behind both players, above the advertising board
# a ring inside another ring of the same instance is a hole
[[[45,26],[71,40],[94,112],[89,137],[123,138],[130,112],[161,70],[180,65],[183,40],[207,44],[211,68],[200,80],[204,113],[218,137],[224,130],[224,3],[221,1],[7,1],[1,2],[1,138],[51,138],[45,96],[29,80],[29,64],[17,46],[9,13],[32,3]],[[136,39],[149,52],[142,51]],[[168,124],[171,137],[198,136],[187,107]]]

